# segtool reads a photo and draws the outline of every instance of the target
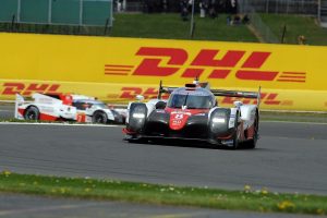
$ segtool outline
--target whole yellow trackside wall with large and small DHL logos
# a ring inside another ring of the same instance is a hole
[[[2,100],[39,92],[126,102],[156,97],[160,80],[199,76],[211,88],[262,86],[263,109],[327,111],[327,47],[8,33],[0,45]]]

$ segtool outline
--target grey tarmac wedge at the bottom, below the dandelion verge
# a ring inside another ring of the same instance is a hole
[[[314,218],[287,214],[229,211],[0,194],[0,218]]]

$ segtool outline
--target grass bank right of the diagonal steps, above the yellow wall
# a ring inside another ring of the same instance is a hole
[[[287,26],[286,44],[298,44],[298,37],[303,35],[307,45],[327,46],[327,28],[320,27],[314,17],[286,14],[261,15],[279,39],[283,26]]]

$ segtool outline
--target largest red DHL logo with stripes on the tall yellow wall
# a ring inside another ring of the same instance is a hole
[[[305,72],[279,72],[262,71],[261,68],[267,62],[271,52],[252,51],[242,62],[247,51],[228,50],[222,58],[216,58],[223,51],[214,49],[202,49],[193,59],[190,59],[186,50],[182,48],[154,48],[141,47],[135,53],[145,57],[138,65],[106,64],[107,75],[137,75],[137,76],[170,76],[183,71],[181,77],[201,76],[206,70],[210,73],[207,78],[227,78],[237,65],[241,65],[234,74],[235,78],[243,81],[277,81],[305,83]],[[166,66],[164,59],[168,58]],[[184,65],[191,60],[186,69]]]

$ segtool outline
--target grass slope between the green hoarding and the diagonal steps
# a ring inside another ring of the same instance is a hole
[[[257,41],[245,25],[230,26],[227,15],[217,19],[195,16],[193,39]],[[190,21],[183,22],[180,14],[116,14],[111,36],[190,39]]]

